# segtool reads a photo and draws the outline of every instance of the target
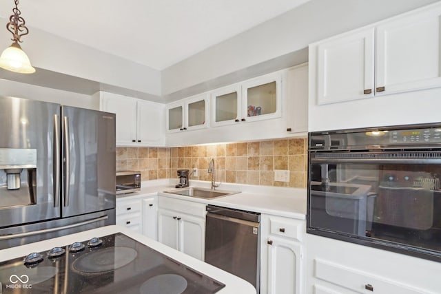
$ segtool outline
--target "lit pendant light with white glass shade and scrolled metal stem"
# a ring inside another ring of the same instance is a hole
[[[12,45],[3,50],[0,56],[0,67],[11,72],[19,72],[21,74],[32,74],[35,72],[35,68],[30,65],[28,55],[21,50],[19,43],[21,36],[29,33],[28,28],[25,26],[25,20],[20,16],[21,11],[17,7],[19,0],[15,1],[15,8],[12,8],[12,14],[9,18],[9,23],[6,25],[6,29],[11,32],[14,41]]]

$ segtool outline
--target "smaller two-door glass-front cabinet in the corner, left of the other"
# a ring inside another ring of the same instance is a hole
[[[208,98],[201,94],[167,105],[167,132],[208,127]]]

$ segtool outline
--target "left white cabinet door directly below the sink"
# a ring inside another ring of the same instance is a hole
[[[166,209],[158,209],[158,241],[179,249],[178,213]]]

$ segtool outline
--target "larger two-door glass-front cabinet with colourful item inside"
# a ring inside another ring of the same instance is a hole
[[[280,117],[281,82],[282,75],[276,72],[212,91],[211,125]]]

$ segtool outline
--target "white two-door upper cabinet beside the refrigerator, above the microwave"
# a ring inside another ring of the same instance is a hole
[[[99,92],[100,109],[116,114],[117,146],[165,145],[164,105]]]

